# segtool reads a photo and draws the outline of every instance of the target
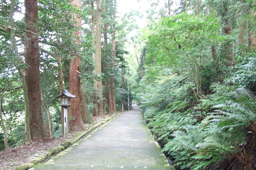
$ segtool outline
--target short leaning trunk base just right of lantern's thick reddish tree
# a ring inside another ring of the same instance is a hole
[[[94,121],[91,119],[91,116],[89,115],[88,111],[87,111],[87,104],[85,101],[85,91],[83,88],[83,85],[80,85],[80,115],[82,117],[82,122],[83,123],[89,123],[89,124],[94,124]]]

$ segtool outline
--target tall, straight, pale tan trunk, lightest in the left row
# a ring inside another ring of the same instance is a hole
[[[101,75],[101,0],[97,0],[97,24],[96,24],[96,60],[95,71]],[[103,114],[102,81],[97,80],[98,86],[98,115]]]

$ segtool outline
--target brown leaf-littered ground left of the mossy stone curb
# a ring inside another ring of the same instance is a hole
[[[93,117],[93,120],[97,124],[110,117],[109,115],[103,115],[101,117]],[[91,125],[85,124],[85,126]],[[20,165],[27,164],[38,155],[46,153],[47,150],[53,147],[59,146],[66,139],[72,139],[75,134],[70,133],[65,137],[36,140],[32,144],[22,144],[18,147],[11,148],[9,151],[2,151],[0,152],[0,169],[14,170]]]

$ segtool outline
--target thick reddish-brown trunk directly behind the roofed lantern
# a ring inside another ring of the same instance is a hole
[[[81,9],[82,1],[73,0],[71,4]],[[81,34],[82,34],[82,20],[78,17],[78,14],[73,14],[76,21],[76,26],[78,30],[73,33],[75,42],[77,45],[81,44]],[[84,129],[82,118],[80,115],[80,77],[78,73],[81,71],[81,58],[79,53],[74,53],[69,65],[69,92],[76,97],[71,100],[70,107],[68,108],[68,131],[81,131]]]

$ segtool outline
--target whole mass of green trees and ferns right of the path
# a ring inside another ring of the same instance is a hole
[[[215,170],[247,145],[248,129],[255,132],[256,53],[235,43],[250,7],[232,0],[191,0],[190,7],[197,15],[183,12],[148,25],[136,99],[178,169]],[[233,67],[227,65],[228,43]]]

